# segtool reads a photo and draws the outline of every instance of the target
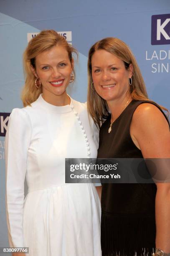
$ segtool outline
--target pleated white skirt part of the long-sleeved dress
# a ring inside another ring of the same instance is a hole
[[[93,184],[64,184],[25,198],[24,245],[29,256],[101,256],[101,206]]]

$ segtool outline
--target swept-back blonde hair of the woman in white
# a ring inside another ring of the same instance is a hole
[[[70,62],[73,58],[72,53],[78,56],[76,49],[54,30],[43,30],[28,43],[23,54],[25,85],[21,93],[21,100],[24,107],[37,100],[42,93],[42,86],[39,89],[35,86],[36,77],[31,70],[31,66],[36,69],[36,56],[58,45],[63,46],[67,50]]]

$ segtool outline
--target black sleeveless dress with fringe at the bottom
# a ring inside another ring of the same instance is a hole
[[[114,121],[111,133],[111,116],[108,117],[99,133],[98,158],[143,158],[130,136],[130,124],[134,110],[145,102],[132,100]],[[102,256],[152,255],[156,191],[155,184],[102,184]]]

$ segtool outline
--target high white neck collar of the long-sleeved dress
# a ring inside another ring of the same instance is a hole
[[[56,112],[56,113],[68,113],[68,112],[71,112],[71,107],[73,106],[73,100],[71,99],[70,96],[69,98],[70,98],[70,105],[65,105],[65,106],[55,106],[46,102],[46,100],[43,99],[42,94],[38,97],[36,102],[40,104],[42,108],[48,111]]]

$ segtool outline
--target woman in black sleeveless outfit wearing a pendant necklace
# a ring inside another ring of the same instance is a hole
[[[118,38],[96,42],[88,74],[98,158],[170,158],[166,109],[148,99],[129,47]],[[170,253],[170,184],[103,184],[101,208],[103,256]]]

